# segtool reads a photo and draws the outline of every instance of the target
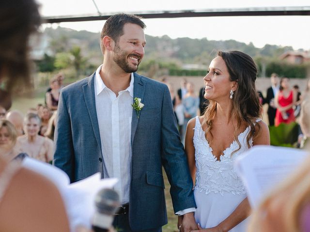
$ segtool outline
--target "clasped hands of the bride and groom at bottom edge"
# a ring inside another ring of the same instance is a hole
[[[179,232],[224,232],[219,226],[202,229],[196,223],[194,213],[187,213],[178,217],[178,230]]]

